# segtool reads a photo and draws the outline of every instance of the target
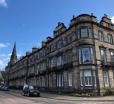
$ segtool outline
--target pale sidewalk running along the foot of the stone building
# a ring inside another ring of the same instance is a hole
[[[11,90],[10,93],[14,95],[22,94],[22,91],[19,90]],[[41,92],[42,98],[56,99],[56,100],[69,100],[69,101],[114,101],[114,96],[104,96],[104,97],[73,97],[68,95],[58,95],[51,93]]]

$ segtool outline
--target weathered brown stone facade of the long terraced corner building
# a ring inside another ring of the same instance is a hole
[[[100,22],[92,14],[73,16],[68,28],[59,22],[53,34],[16,62],[15,46],[14,59],[6,66],[9,86],[28,83],[44,91],[114,92],[114,24],[107,15]]]

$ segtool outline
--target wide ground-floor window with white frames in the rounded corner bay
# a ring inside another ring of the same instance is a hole
[[[95,71],[86,70],[80,72],[80,84],[81,86],[96,86],[96,74]]]

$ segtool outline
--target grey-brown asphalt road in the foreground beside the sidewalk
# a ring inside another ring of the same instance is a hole
[[[114,104],[113,101],[68,101],[43,97],[16,96],[0,91],[0,104]]]

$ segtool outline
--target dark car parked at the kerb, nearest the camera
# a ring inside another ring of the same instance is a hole
[[[40,92],[34,86],[26,86],[23,88],[23,95],[24,96],[40,96]]]

